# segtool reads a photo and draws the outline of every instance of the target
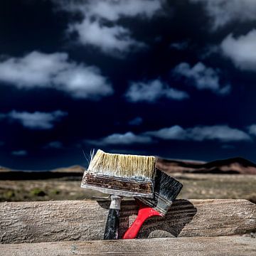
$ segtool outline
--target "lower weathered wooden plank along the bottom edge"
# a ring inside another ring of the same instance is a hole
[[[2,255],[256,255],[256,239],[237,236],[218,238],[154,238],[140,240],[95,240],[87,242],[41,242],[0,245]]]

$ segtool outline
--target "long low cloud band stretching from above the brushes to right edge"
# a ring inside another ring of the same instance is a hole
[[[254,131],[256,135],[256,125]],[[166,127],[156,131],[142,132],[134,134],[126,132],[124,134],[111,134],[97,140],[85,140],[86,143],[95,146],[105,145],[130,145],[130,144],[150,144],[156,139],[178,140],[178,141],[218,141],[230,142],[250,142],[252,138],[246,132],[229,127],[228,125],[196,126],[183,128],[179,125]]]

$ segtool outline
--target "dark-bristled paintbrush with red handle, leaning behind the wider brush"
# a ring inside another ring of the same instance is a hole
[[[139,212],[132,226],[124,234],[123,239],[137,238],[144,221],[152,216],[164,216],[168,212],[183,185],[175,178],[156,169],[154,198],[139,199]]]

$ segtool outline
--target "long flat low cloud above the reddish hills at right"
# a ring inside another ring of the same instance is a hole
[[[204,140],[218,140],[220,142],[250,141],[250,136],[240,129],[227,125],[197,126],[184,129],[178,125],[144,134],[159,139],[192,140],[202,142]]]

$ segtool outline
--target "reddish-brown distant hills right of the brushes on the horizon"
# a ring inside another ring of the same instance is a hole
[[[169,174],[256,174],[256,164],[242,157],[210,162],[159,159],[157,168]]]

